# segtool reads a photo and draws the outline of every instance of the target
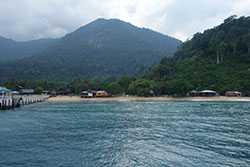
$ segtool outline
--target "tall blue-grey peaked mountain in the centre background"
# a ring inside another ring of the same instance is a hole
[[[98,19],[32,57],[2,65],[5,72],[0,77],[66,80],[134,75],[172,56],[180,44],[175,38],[121,20]]]

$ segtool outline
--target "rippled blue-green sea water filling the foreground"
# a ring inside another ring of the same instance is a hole
[[[250,103],[40,103],[0,112],[0,167],[248,167]]]

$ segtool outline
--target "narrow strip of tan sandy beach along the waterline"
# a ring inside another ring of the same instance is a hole
[[[81,101],[250,101],[250,97],[136,97],[119,96],[108,98],[81,98],[80,96],[56,96],[48,99],[49,102],[81,102]]]

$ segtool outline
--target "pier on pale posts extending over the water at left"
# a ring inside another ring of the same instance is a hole
[[[48,95],[19,95],[7,88],[0,87],[0,110],[14,109],[23,105],[43,102]]]

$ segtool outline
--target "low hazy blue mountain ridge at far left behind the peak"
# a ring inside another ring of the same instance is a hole
[[[17,42],[0,36],[0,62],[20,60],[53,46],[56,39],[39,39],[27,42]]]

